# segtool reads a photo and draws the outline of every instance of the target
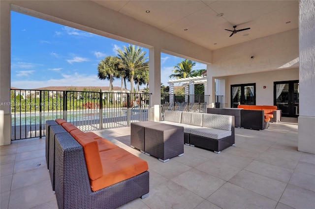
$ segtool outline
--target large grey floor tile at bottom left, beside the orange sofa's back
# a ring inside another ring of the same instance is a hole
[[[56,199],[47,180],[29,186],[11,190],[9,209],[30,209]]]

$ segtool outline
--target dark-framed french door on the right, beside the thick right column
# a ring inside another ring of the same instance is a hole
[[[299,116],[299,81],[274,82],[274,105],[284,117]]]

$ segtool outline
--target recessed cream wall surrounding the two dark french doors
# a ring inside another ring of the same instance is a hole
[[[225,107],[231,107],[231,85],[243,83],[256,83],[257,105],[274,105],[274,82],[298,80],[299,69],[283,69],[237,76],[228,76],[224,78],[226,83]],[[263,88],[263,86],[266,86],[266,88]]]

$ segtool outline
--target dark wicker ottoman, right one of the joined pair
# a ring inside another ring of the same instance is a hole
[[[158,123],[145,127],[145,152],[166,162],[170,157],[184,155],[184,128]]]

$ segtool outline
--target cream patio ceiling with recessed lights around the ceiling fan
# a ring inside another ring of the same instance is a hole
[[[93,1],[210,50],[298,28],[299,21],[298,0]],[[229,37],[224,29],[235,25],[251,29]]]

